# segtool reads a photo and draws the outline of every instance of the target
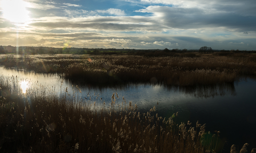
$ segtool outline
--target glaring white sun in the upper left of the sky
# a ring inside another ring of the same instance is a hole
[[[24,23],[29,20],[28,3],[22,0],[2,0],[3,17],[11,22]]]

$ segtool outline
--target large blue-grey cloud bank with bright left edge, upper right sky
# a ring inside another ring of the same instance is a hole
[[[151,19],[167,29],[209,29],[224,27],[234,31],[256,31],[256,17],[244,17],[233,12],[219,12],[170,6],[148,6],[137,12],[151,13]],[[255,12],[256,13],[256,12]],[[239,21],[239,22],[237,22]]]

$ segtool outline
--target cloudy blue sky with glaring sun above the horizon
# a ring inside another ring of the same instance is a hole
[[[256,50],[256,0],[0,0],[0,45]]]

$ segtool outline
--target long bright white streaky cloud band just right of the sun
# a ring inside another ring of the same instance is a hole
[[[47,17],[29,23],[42,28],[66,28],[104,31],[162,31],[161,25],[148,24],[146,17]]]

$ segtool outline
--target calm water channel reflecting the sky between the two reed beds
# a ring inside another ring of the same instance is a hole
[[[17,76],[18,79],[28,80],[30,83],[42,84],[55,88],[56,94],[65,92],[68,87],[72,92],[72,85],[82,91],[82,97],[90,97],[92,101],[102,98],[106,103],[111,102],[111,95],[118,93],[116,103],[126,102],[137,104],[139,111],[146,112],[156,106],[159,116],[169,118],[179,111],[177,122],[206,123],[206,130],[220,131],[222,152],[227,152],[232,144],[249,143],[256,148],[256,82],[244,79],[237,83],[227,83],[211,86],[177,87],[150,84],[129,84],[122,86],[82,85],[74,80],[62,79],[59,75],[43,75],[33,72],[4,69],[0,67],[1,76]],[[95,93],[95,94],[94,94]],[[96,99],[97,98],[97,99]],[[158,104],[157,104],[158,102]],[[225,142],[226,141],[226,142]]]

